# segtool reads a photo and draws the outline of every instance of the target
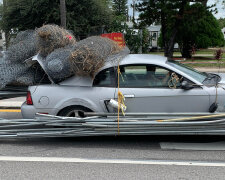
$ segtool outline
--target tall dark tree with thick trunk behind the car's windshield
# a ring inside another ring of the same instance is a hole
[[[192,13],[186,11],[190,2],[200,2],[204,6],[207,4],[207,0],[139,0],[137,7],[141,25],[151,25],[155,22],[162,25],[162,44],[166,57],[173,56],[178,27],[182,25],[184,15]]]

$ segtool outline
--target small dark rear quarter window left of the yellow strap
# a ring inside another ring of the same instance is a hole
[[[114,68],[108,68],[99,72],[93,81],[96,87],[115,87]]]

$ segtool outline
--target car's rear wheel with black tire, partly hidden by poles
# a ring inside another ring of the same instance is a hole
[[[84,118],[84,112],[92,112],[90,109],[82,106],[70,106],[59,112],[59,116]]]

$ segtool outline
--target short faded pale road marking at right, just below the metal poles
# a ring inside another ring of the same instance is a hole
[[[195,150],[195,151],[224,151],[225,142],[209,143],[182,143],[182,142],[161,142],[161,149],[167,150]]]

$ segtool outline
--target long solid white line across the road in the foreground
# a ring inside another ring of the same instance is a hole
[[[1,161],[11,162],[54,162],[54,163],[97,163],[97,164],[132,164],[132,165],[175,165],[175,166],[211,166],[225,167],[225,162],[207,161],[170,161],[170,160],[132,160],[132,159],[85,159],[64,157],[13,157],[0,156]]]

